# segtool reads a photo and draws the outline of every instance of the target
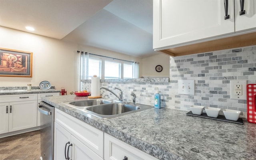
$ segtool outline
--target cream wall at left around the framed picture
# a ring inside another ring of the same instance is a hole
[[[0,86],[39,86],[48,80],[58,90],[77,88],[77,44],[5,27],[0,27],[0,35],[0,48],[33,52],[32,78],[0,77]]]

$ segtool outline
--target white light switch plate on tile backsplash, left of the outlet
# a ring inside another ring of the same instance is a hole
[[[195,95],[195,80],[178,80],[178,94]]]

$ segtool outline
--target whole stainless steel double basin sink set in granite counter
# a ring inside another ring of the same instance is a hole
[[[113,118],[153,107],[144,104],[132,104],[130,102],[122,102],[105,98],[64,103],[68,104],[68,106],[83,110],[86,113],[103,119]]]

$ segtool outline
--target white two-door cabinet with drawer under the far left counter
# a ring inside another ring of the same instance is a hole
[[[0,96],[0,134],[36,127],[37,94]]]

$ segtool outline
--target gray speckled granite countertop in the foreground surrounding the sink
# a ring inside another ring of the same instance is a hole
[[[234,124],[187,116],[188,111],[150,108],[100,119],[63,102],[74,95],[42,98],[46,103],[160,160],[254,160],[256,124]]]

